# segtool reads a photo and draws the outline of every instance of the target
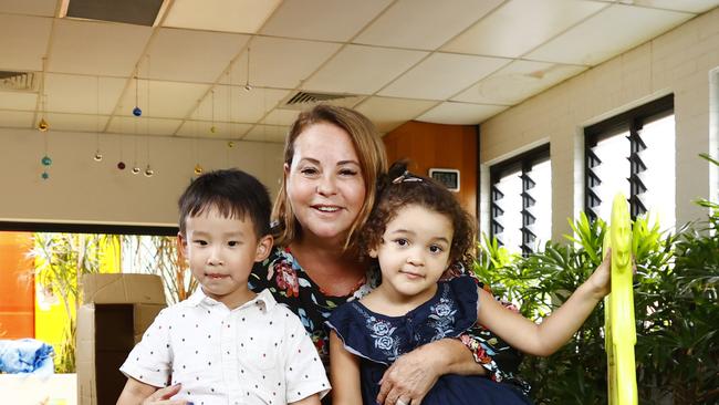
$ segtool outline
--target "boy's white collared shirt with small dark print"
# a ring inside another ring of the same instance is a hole
[[[285,404],[330,391],[300,319],[269,290],[229,310],[201,288],[163,310],[119,368],[195,404]],[[173,381],[168,381],[171,376]]]

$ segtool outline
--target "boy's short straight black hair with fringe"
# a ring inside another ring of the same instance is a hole
[[[185,235],[187,218],[211,208],[226,218],[249,217],[258,239],[270,233],[272,204],[267,188],[254,176],[236,168],[199,176],[185,189],[177,204],[181,235]]]

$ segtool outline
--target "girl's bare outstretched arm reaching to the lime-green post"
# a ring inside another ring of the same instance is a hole
[[[611,267],[611,252],[607,252],[594,273],[539,325],[507,310],[490,293],[479,289],[477,322],[524,353],[548,356],[572,338],[597,302],[609,293]]]

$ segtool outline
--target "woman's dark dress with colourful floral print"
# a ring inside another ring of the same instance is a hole
[[[473,277],[473,273],[461,266],[456,266],[447,270],[444,279],[466,274]],[[325,321],[337,307],[363,298],[379,285],[381,281],[378,268],[371,268],[363,282],[351,294],[329,295],[310,279],[292,256],[292,251],[281,247],[274,248],[265,260],[256,263],[249,279],[253,291],[269,289],[279,303],[286,305],[302,320],[326,370],[330,370],[330,338]],[[493,381],[510,382],[529,392],[529,385],[514,375],[522,359],[520,352],[479,325],[475,325],[459,339],[472,351],[475,361],[488,371]]]

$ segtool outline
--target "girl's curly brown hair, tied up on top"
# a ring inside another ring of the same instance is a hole
[[[475,219],[459,205],[455,195],[436,180],[407,172],[407,160],[392,165],[377,181],[377,201],[359,232],[359,248],[364,255],[382,242],[387,224],[409,205],[417,205],[446,215],[452,224],[449,262],[468,264],[473,258]]]

